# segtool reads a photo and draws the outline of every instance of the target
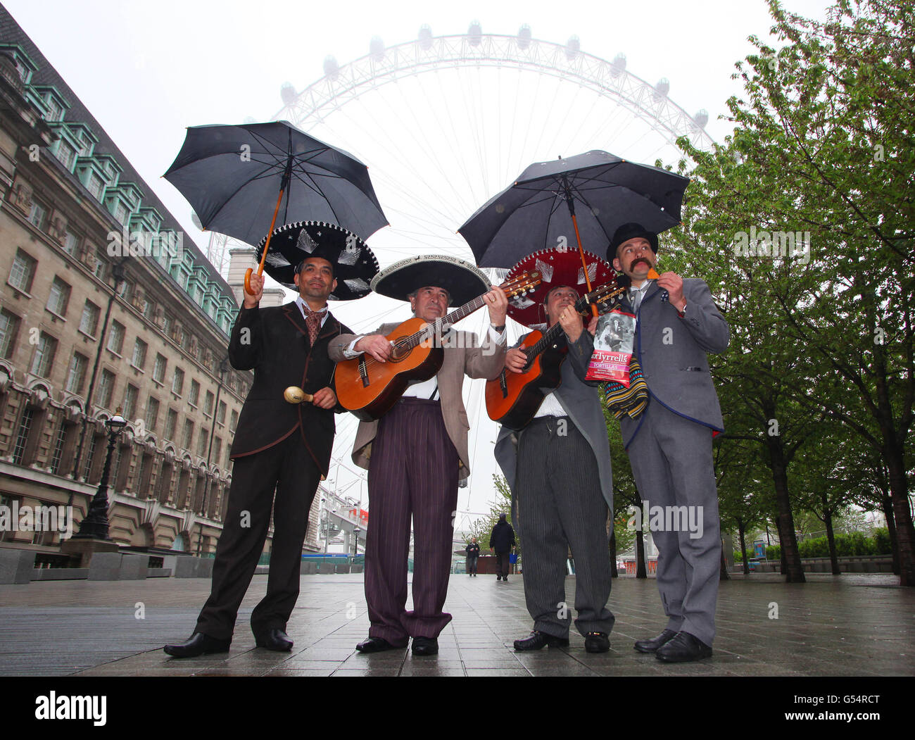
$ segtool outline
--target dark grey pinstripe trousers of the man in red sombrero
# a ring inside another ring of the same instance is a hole
[[[576,564],[575,625],[605,632],[614,617],[610,596],[607,502],[597,460],[567,417],[533,419],[518,439],[515,478],[521,519],[524,599],[533,628],[568,637],[572,617],[565,605],[565,559]]]

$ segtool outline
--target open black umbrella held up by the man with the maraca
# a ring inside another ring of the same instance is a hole
[[[277,214],[280,223],[337,223],[363,239],[388,223],[366,166],[286,121],[191,126],[164,177],[203,228],[251,245],[273,233]]]

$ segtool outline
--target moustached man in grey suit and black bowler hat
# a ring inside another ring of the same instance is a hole
[[[705,355],[724,352],[730,332],[704,281],[673,272],[649,279],[657,251],[657,234],[627,223],[608,259],[631,281],[624,307],[636,315],[634,354],[650,397],[638,418],[620,419],[623,444],[642,501],[666,515],[660,528],[652,517],[651,536],[667,626],[635,649],[678,663],[709,657],[715,638],[721,538],[712,438],[724,429]]]

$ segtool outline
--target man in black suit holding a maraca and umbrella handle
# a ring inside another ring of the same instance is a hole
[[[168,655],[190,658],[228,651],[239,605],[264,550],[271,509],[270,576],[267,593],[251,615],[251,628],[258,647],[287,651],[293,646],[285,627],[298,598],[308,511],[318,481],[328,473],[334,413],[345,410],[337,403],[336,365],[328,356],[330,341],[341,332],[351,333],[328,310],[328,296],[337,287],[334,270],[329,259],[307,257],[296,269],[299,297],[265,309],[258,305],[264,277],[251,276],[254,294],[244,294],[231,331],[229,360],[238,370],[253,369],[254,383],[232,441],[232,485],[212,590],[194,634],[182,644],[167,645]],[[300,386],[313,400],[286,402],[288,386]]]

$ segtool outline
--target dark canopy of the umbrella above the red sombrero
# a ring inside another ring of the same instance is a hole
[[[458,229],[480,267],[511,267],[556,245],[603,253],[623,223],[660,233],[680,223],[688,178],[595,150],[536,162]]]

